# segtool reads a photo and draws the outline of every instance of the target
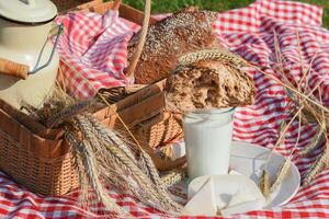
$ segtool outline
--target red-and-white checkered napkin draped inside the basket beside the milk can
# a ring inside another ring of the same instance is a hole
[[[66,87],[84,100],[102,88],[134,82],[125,77],[127,44],[139,26],[118,18],[117,11],[105,14],[69,13],[56,20],[64,25],[57,50]]]

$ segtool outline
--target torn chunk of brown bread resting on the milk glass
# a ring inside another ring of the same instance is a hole
[[[181,67],[169,77],[164,91],[167,107],[180,113],[246,106],[252,104],[256,94],[246,72],[218,60]]]

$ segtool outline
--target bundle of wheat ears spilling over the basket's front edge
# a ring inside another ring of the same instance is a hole
[[[95,101],[79,102],[57,91],[42,110],[26,106],[47,127],[56,125],[66,130],[80,180],[81,204],[92,210],[101,201],[109,214],[127,217],[106,193],[110,187],[161,211],[178,212],[181,206],[170,198],[167,186],[183,180],[182,172],[169,172],[161,178],[148,153],[127,134],[106,128],[90,113],[95,105]]]

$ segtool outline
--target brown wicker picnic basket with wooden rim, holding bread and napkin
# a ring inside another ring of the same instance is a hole
[[[54,0],[61,11],[73,8],[103,13],[115,5],[115,2],[103,3],[101,0],[80,5],[81,2],[87,1]],[[143,13],[128,5],[121,4],[120,13],[135,23],[143,23]],[[150,84],[98,110],[94,116],[107,127],[114,127],[120,125],[120,115],[137,139],[152,147],[175,139],[182,132],[181,126],[179,122],[173,123],[168,114],[163,116],[162,89],[163,81]],[[149,123],[155,118],[157,123]],[[171,122],[167,123],[168,119]],[[79,181],[73,158],[63,134],[64,130],[49,129],[0,101],[0,169],[30,191],[42,195],[58,196],[77,188]]]

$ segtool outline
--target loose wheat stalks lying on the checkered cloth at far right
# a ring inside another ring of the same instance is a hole
[[[284,79],[284,88],[286,90],[287,96],[295,103],[296,106],[304,106],[304,110],[302,112],[303,119],[305,122],[316,122],[318,124],[317,132],[316,135],[310,139],[308,146],[306,146],[304,149],[299,151],[299,155],[306,155],[309,153],[313,149],[317,147],[319,141],[325,138],[326,139],[326,150],[324,153],[320,154],[320,157],[316,160],[316,162],[310,166],[310,170],[308,171],[305,184],[308,184],[311,182],[311,180],[315,177],[317,173],[319,173],[325,166],[328,166],[328,137],[327,137],[327,126],[329,122],[329,111],[327,107],[324,106],[322,100],[321,100],[321,90],[320,84],[322,81],[319,81],[314,89],[309,92],[308,95],[306,95],[306,91],[309,90],[309,83],[307,78],[307,73],[311,71],[313,62],[315,61],[317,54],[319,49],[316,50],[315,55],[313,56],[310,64],[307,69],[304,68],[304,64],[302,60],[302,49],[300,49],[300,39],[299,34],[297,31],[297,43],[298,43],[298,55],[299,55],[299,62],[300,62],[300,69],[302,69],[302,79],[296,82],[297,88],[294,88],[293,83],[286,79],[285,72],[283,70],[283,61],[284,57],[281,56],[280,47],[277,45],[277,36],[274,32],[274,44],[275,44],[275,53],[276,53],[276,59],[279,60],[279,64],[281,65],[281,76]],[[264,72],[263,72],[264,73]],[[270,76],[269,76],[270,77]],[[274,77],[275,78],[275,77]],[[275,79],[274,79],[275,80]],[[279,82],[279,81],[277,81]],[[280,83],[280,82],[279,82]],[[304,88],[304,91],[303,89]],[[319,101],[313,95],[314,91],[318,89],[319,93]],[[306,97],[307,96],[307,97]],[[309,119],[310,118],[310,119]],[[298,135],[299,136],[299,135]]]

